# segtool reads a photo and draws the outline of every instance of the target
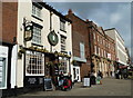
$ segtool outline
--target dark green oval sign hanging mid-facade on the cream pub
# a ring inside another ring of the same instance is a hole
[[[58,35],[54,32],[54,30],[48,35],[48,40],[51,46],[55,46],[59,42]]]

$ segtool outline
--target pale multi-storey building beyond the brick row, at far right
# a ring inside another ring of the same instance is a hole
[[[127,66],[127,55],[125,50],[124,40],[120,36],[116,29],[105,30],[105,33],[111,37],[115,41],[115,52],[116,52],[116,61]]]

